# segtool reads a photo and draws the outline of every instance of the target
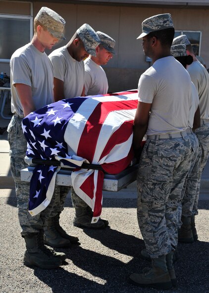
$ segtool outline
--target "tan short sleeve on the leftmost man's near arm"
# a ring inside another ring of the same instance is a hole
[[[27,61],[21,56],[14,57],[10,62],[12,72],[12,84],[22,83],[32,86],[31,83],[31,68]]]

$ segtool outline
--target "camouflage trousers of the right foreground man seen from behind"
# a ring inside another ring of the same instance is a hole
[[[178,244],[177,208],[190,168],[189,136],[148,139],[137,174],[137,218],[146,249],[153,258]]]

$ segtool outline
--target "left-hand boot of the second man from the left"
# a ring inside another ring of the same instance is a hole
[[[52,218],[49,218],[44,223],[44,243],[54,247],[70,247],[71,242],[63,238],[56,230]]]

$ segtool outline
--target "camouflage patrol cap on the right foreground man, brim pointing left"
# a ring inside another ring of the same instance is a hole
[[[149,33],[172,27],[173,21],[170,13],[151,16],[142,22],[142,34],[137,39],[141,39],[147,36]]]

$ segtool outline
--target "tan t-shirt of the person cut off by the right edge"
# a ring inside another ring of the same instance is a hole
[[[199,61],[192,62],[187,71],[198,91],[200,117],[209,119],[209,73]]]

